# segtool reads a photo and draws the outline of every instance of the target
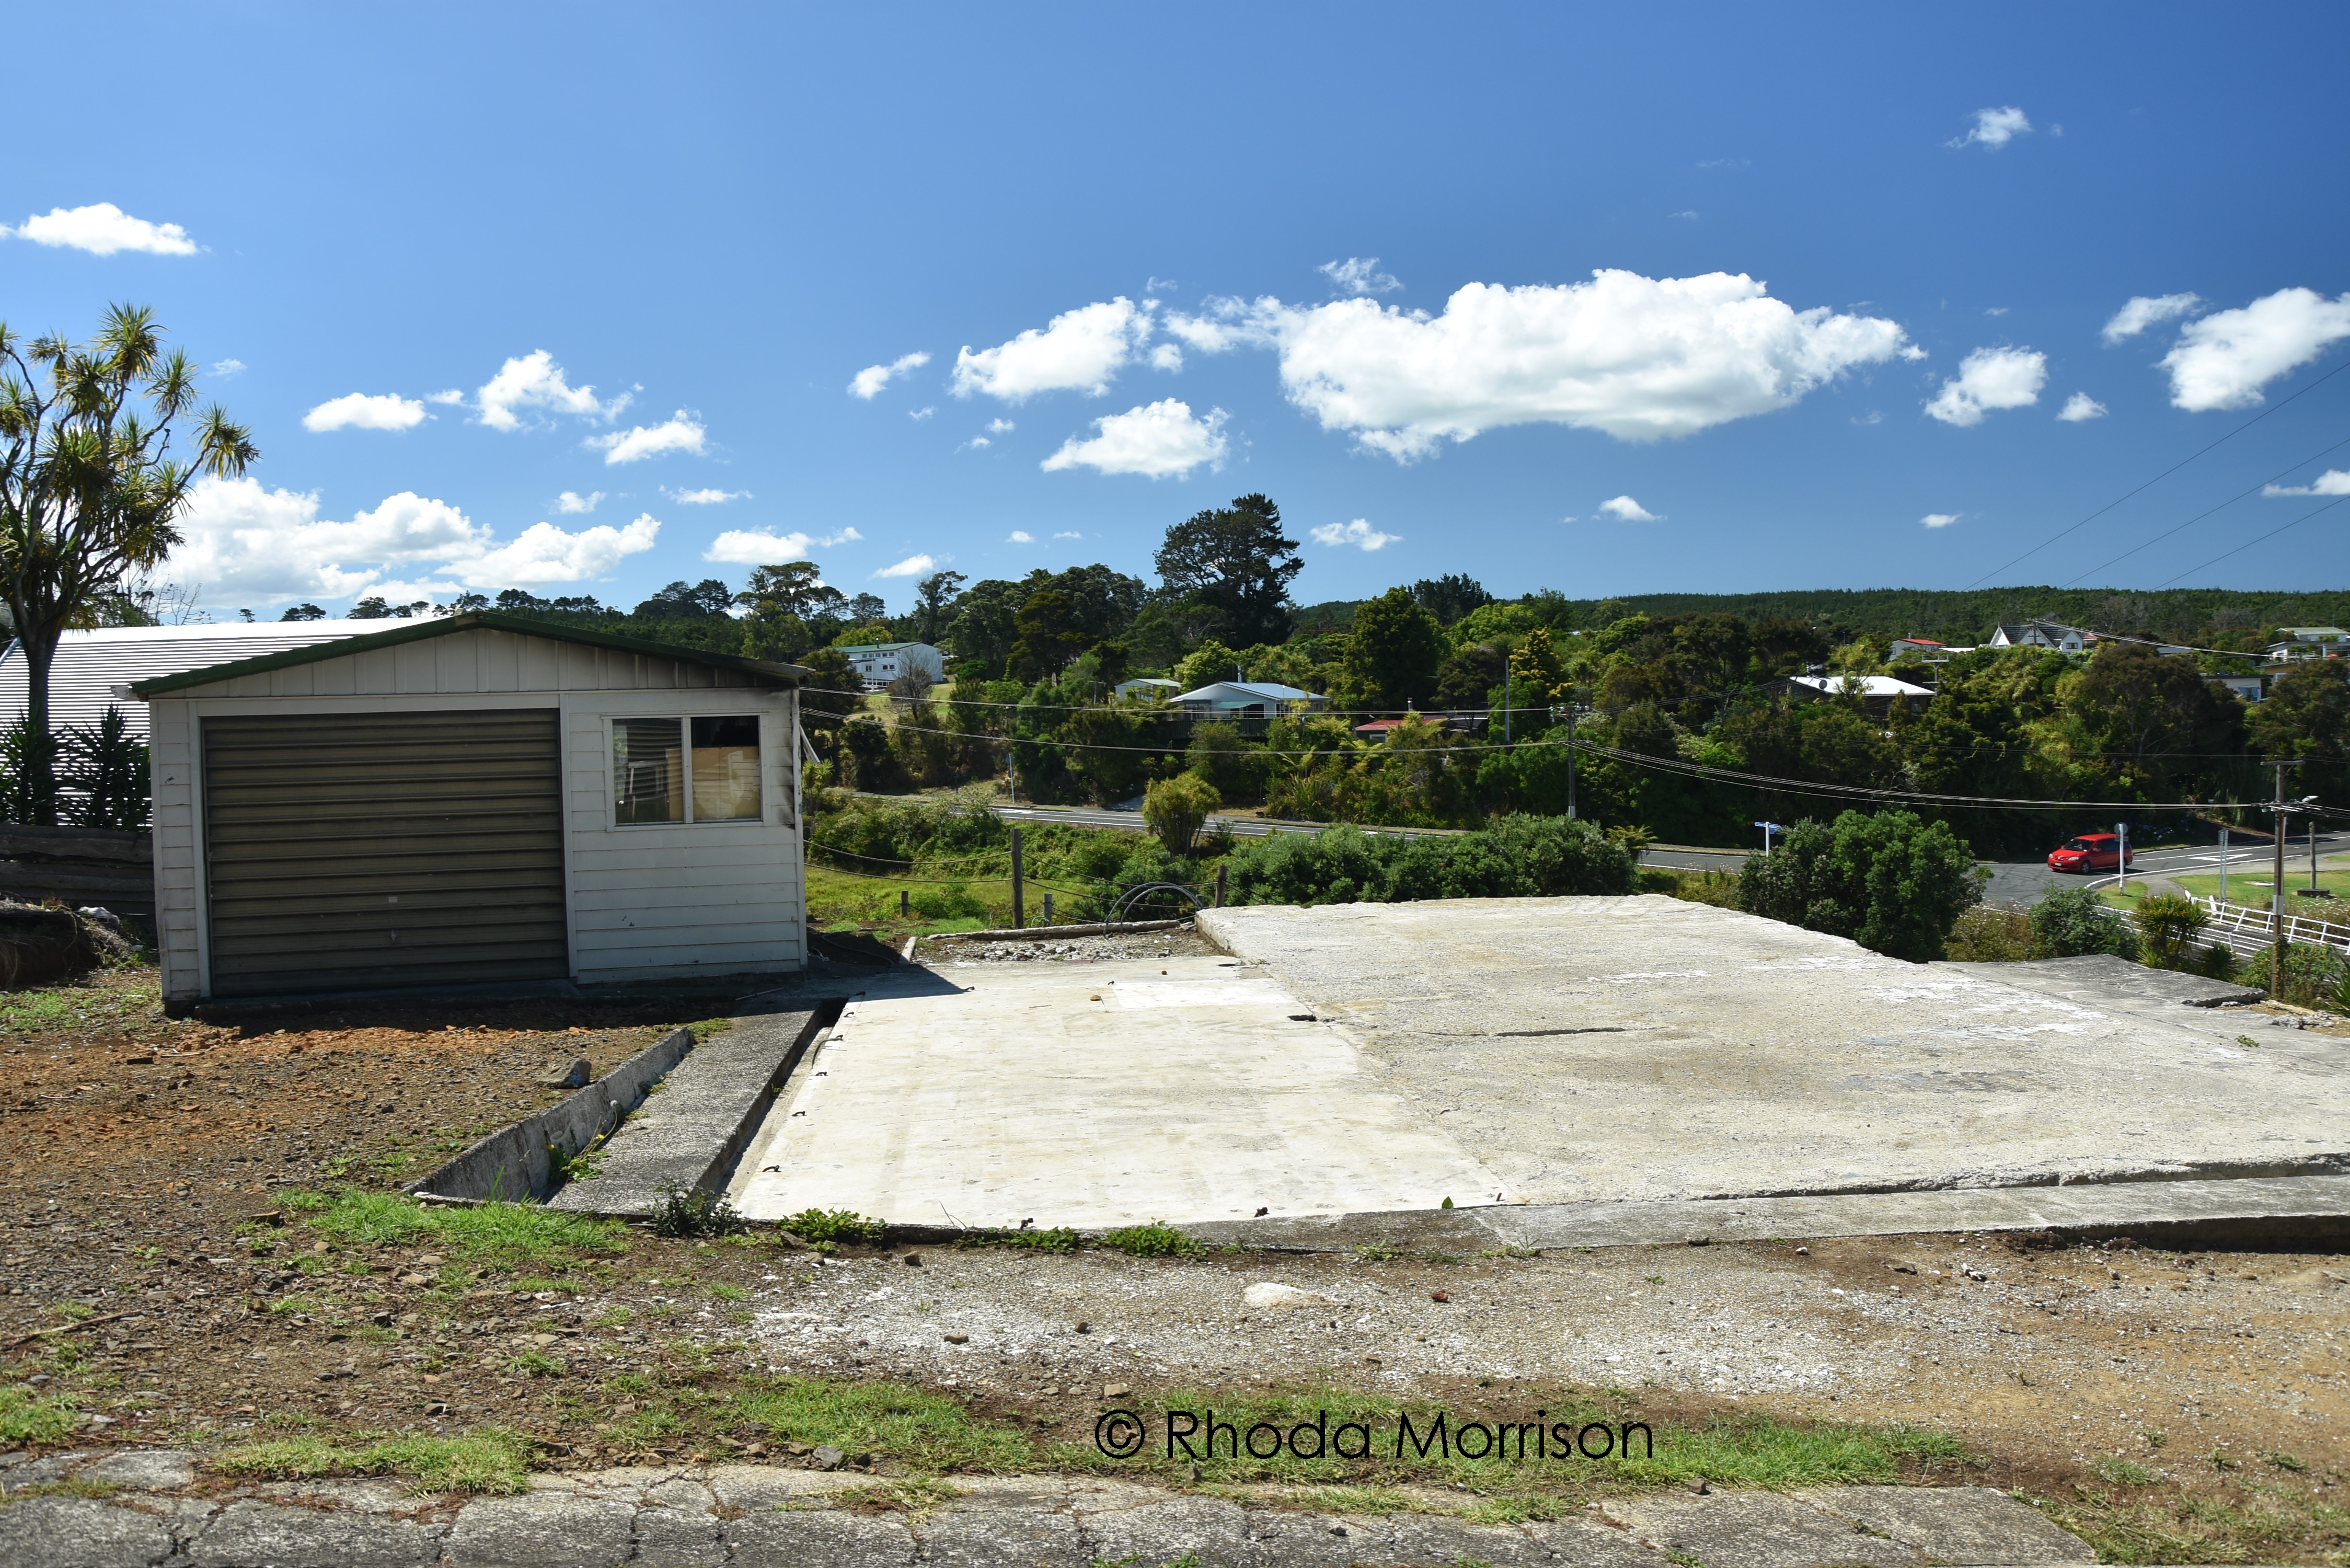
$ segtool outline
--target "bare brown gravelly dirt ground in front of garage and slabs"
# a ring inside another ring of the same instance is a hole
[[[1032,961],[1048,957],[1072,954]],[[430,1239],[320,1227],[313,1194],[381,1194],[555,1098],[531,1081],[550,1058],[602,1070],[724,1011],[167,1023],[150,971],[7,999],[0,1385],[73,1396],[78,1443],[501,1427],[548,1465],[768,1455],[728,1389],[780,1375],[898,1380],[1067,1434],[1109,1387],[1137,1408],[1271,1387],[1607,1399],[1654,1422],[1948,1432],[1969,1481],[2115,1559],[2350,1561],[2338,1255],[1922,1237],[1542,1258],[921,1248],[907,1267],[905,1248],[639,1229],[468,1267]],[[1307,1298],[1253,1307],[1255,1284]]]

